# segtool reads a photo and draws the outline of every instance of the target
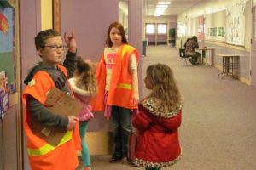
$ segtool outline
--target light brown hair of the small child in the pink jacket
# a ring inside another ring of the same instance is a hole
[[[90,91],[93,96],[97,93],[95,71],[89,63],[86,63],[81,57],[77,58],[77,68],[79,74],[78,88]]]

